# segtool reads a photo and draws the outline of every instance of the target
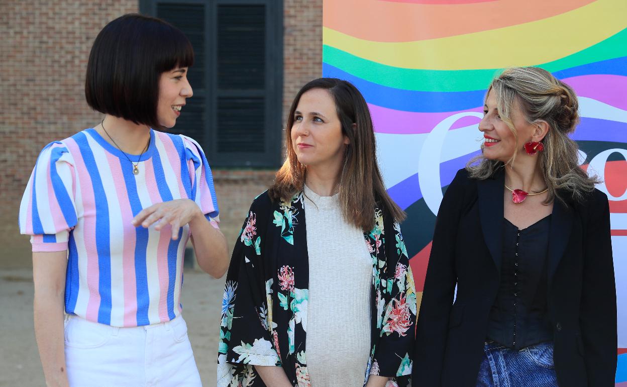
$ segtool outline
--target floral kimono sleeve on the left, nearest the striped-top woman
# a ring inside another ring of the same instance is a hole
[[[280,366],[272,322],[272,279],[265,278],[264,242],[270,201],[257,198],[236,241],[226,275],[218,349],[218,386],[255,378],[252,366]],[[238,385],[238,383],[234,384]],[[247,384],[245,384],[247,385]]]

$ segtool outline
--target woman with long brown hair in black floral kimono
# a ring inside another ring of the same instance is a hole
[[[307,83],[287,119],[287,159],[233,251],[218,386],[407,386],[416,292],[403,218],[361,93]]]

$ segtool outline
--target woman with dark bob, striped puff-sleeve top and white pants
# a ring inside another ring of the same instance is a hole
[[[228,266],[211,169],[171,128],[192,96],[189,40],[127,14],[93,43],[85,97],[102,122],[44,147],[22,199],[34,327],[49,386],[200,386],[180,304],[190,236]],[[65,324],[64,324],[65,311]],[[65,327],[64,327],[65,325]]]

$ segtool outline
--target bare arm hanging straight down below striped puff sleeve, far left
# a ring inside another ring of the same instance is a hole
[[[69,386],[65,365],[65,270],[68,252],[33,253],[34,327],[46,386]]]

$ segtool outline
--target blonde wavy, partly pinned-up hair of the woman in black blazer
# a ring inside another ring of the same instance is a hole
[[[514,133],[516,149],[522,146],[518,144],[517,130],[512,122],[516,102],[529,124],[540,121],[549,124],[549,131],[542,140],[544,151],[538,154],[549,190],[545,204],[552,203],[555,198],[563,200],[564,195],[581,201],[586,193],[593,191],[594,184],[600,181],[579,167],[579,147],[568,136],[579,124],[579,102],[569,85],[539,67],[514,67],[492,80],[486,99],[490,91],[497,100],[498,114]],[[507,163],[480,155],[466,164],[466,170],[471,178],[487,179],[506,164],[513,165],[515,155],[516,152]]]

